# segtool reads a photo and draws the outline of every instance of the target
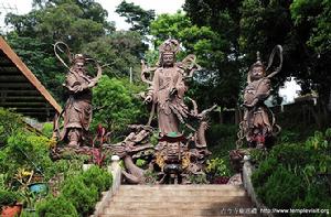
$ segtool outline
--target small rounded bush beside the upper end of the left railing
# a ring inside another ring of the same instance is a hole
[[[87,187],[97,186],[98,193],[105,192],[109,189],[111,186],[111,175],[106,171],[103,170],[96,165],[93,165],[90,169],[88,169],[86,172],[84,172],[82,175],[83,183]]]

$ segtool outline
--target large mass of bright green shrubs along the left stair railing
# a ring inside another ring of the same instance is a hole
[[[94,210],[100,193],[109,189],[113,181],[106,170],[92,166],[83,172],[75,165],[71,167],[76,162],[81,167],[82,161],[77,159],[56,162],[58,174],[65,170],[72,172],[66,172],[58,197],[47,197],[36,205],[39,216],[87,216]]]

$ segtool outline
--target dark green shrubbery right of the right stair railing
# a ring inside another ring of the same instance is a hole
[[[325,134],[317,131],[306,142],[271,149],[252,175],[263,203],[277,208],[330,207],[329,131]]]

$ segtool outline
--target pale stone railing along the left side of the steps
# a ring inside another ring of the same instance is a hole
[[[113,175],[113,184],[108,192],[103,193],[103,198],[100,202],[96,204],[95,211],[93,217],[100,216],[104,211],[104,208],[110,202],[110,198],[117,193],[120,187],[120,180],[121,180],[121,169],[119,165],[119,156],[113,155],[111,156],[111,164],[108,166],[108,172]]]

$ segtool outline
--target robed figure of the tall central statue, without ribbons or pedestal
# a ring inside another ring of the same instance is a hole
[[[160,135],[179,133],[179,123],[188,118],[188,107],[183,101],[186,90],[184,72],[175,65],[179,43],[166,41],[160,46],[159,66],[154,72],[151,87],[145,101],[157,106]]]

